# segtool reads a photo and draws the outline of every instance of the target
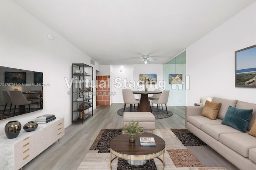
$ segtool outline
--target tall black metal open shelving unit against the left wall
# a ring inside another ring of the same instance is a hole
[[[72,64],[72,123],[84,121],[93,115],[93,67]]]

